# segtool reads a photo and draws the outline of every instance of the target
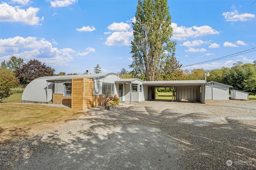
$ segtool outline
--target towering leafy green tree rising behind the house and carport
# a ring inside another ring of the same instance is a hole
[[[133,23],[132,59],[130,65],[137,77],[158,80],[167,53],[174,53],[175,41],[171,41],[171,16],[167,0],[138,0]]]

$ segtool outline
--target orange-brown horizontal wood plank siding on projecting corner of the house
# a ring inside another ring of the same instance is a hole
[[[88,109],[93,106],[93,80],[90,78],[72,79],[72,109]]]

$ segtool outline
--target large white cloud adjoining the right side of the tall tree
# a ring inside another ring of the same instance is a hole
[[[200,27],[178,27],[177,23],[172,23],[172,39],[186,39],[187,37],[199,37],[204,35],[219,34],[220,32],[212,29],[210,26],[203,25]]]

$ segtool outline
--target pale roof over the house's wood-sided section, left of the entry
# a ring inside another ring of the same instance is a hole
[[[100,73],[100,74],[82,74],[82,75],[68,75],[68,76],[50,76],[47,82],[58,82],[58,81],[72,81],[73,78],[92,78],[93,80],[104,78],[110,74],[116,73]],[[42,77],[44,78],[44,77]]]

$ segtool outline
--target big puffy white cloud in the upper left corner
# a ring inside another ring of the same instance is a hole
[[[6,3],[0,4],[0,21],[6,22],[24,22],[28,25],[42,25],[39,22],[44,20],[36,16],[39,8],[29,7],[26,10],[19,6],[9,6]]]

